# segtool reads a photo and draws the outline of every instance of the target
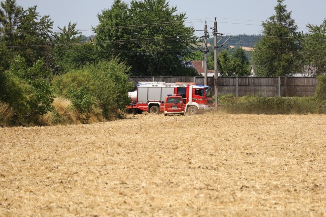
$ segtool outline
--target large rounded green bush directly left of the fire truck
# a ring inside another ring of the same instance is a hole
[[[55,93],[69,98],[76,110],[86,119],[98,108],[106,119],[115,119],[129,103],[129,68],[112,59],[72,70],[54,79]],[[85,116],[86,115],[86,116]]]

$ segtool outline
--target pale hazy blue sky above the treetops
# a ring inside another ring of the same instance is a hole
[[[113,0],[16,0],[27,9],[37,5],[41,16],[50,15],[54,21],[53,30],[67,26],[69,21],[77,23],[76,28],[83,35],[90,36],[92,26],[98,25],[97,14],[111,8]],[[129,3],[130,1],[124,1]],[[276,0],[170,0],[170,6],[177,6],[178,12],[185,12],[186,26],[196,30],[204,29],[204,22],[213,27],[217,18],[218,32],[225,35],[260,34],[261,23],[274,14]],[[326,1],[322,0],[285,0],[287,10],[292,11],[299,31],[306,32],[307,24],[320,25],[326,18]],[[201,32],[196,34],[200,35]],[[211,35],[211,34],[210,34]]]

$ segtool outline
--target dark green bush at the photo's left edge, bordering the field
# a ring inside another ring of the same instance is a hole
[[[16,56],[0,77],[0,100],[13,109],[11,125],[37,124],[38,116],[52,109],[51,75],[43,60],[29,68],[24,58]]]

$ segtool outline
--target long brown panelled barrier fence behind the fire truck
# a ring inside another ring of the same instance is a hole
[[[208,77],[207,84],[214,90],[214,78]],[[129,77],[135,86],[138,82],[193,82],[204,85],[204,77]],[[234,96],[265,97],[308,97],[317,87],[315,77],[218,77],[218,93]]]

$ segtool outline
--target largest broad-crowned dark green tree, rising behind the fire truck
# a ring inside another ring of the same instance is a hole
[[[115,0],[98,18],[95,42],[105,58],[118,55],[132,75],[184,74],[180,62],[191,54],[193,28],[185,27],[186,15],[166,0],[132,1],[130,7]]]

